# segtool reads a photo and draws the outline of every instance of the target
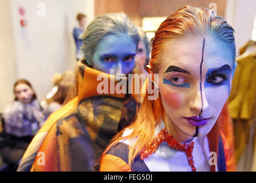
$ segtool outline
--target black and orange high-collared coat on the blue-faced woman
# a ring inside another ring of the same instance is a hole
[[[99,74],[105,73],[85,65],[79,68],[78,96],[49,116],[18,171],[99,170],[99,158],[117,133],[127,100],[122,93],[99,94]],[[109,83],[117,84],[113,75],[105,75]]]

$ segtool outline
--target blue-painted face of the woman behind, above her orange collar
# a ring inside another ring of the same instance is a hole
[[[115,75],[131,73],[135,67],[136,44],[125,34],[105,36],[93,54],[93,68]]]

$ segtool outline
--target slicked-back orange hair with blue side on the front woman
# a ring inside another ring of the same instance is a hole
[[[155,38],[152,42],[151,61],[149,65],[153,73],[158,73],[164,47],[172,41],[180,41],[184,37],[191,35],[204,36],[210,33],[218,35],[220,40],[227,43],[234,53],[234,62],[236,57],[234,30],[227,22],[218,15],[215,15],[210,9],[202,9],[199,7],[184,6],[171,14],[156,31]],[[155,137],[155,126],[160,122],[164,112],[161,97],[157,100],[148,100],[149,94],[145,94],[143,103],[140,106],[137,119],[132,125],[128,126],[132,129],[132,133],[127,137],[121,137],[124,130],[121,130],[111,141],[111,144],[105,150],[104,154],[120,140],[128,139],[133,141],[133,145],[129,146],[128,164],[131,166],[132,161],[137,154]],[[160,96],[160,95],[159,95]],[[210,133],[207,134],[210,152],[218,154],[218,138],[219,138],[219,120],[216,121]],[[211,166],[211,171],[215,171],[215,166]]]

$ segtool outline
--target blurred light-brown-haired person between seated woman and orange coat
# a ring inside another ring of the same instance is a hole
[[[63,74],[56,73],[53,76],[53,88],[46,95],[45,100],[41,102],[46,117],[49,117],[54,111],[60,109],[65,104],[69,87],[73,86],[73,71],[65,71]]]

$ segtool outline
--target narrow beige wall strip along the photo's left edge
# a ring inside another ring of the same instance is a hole
[[[0,112],[3,112],[13,100],[13,83],[17,77],[9,0],[0,1],[0,17]]]

